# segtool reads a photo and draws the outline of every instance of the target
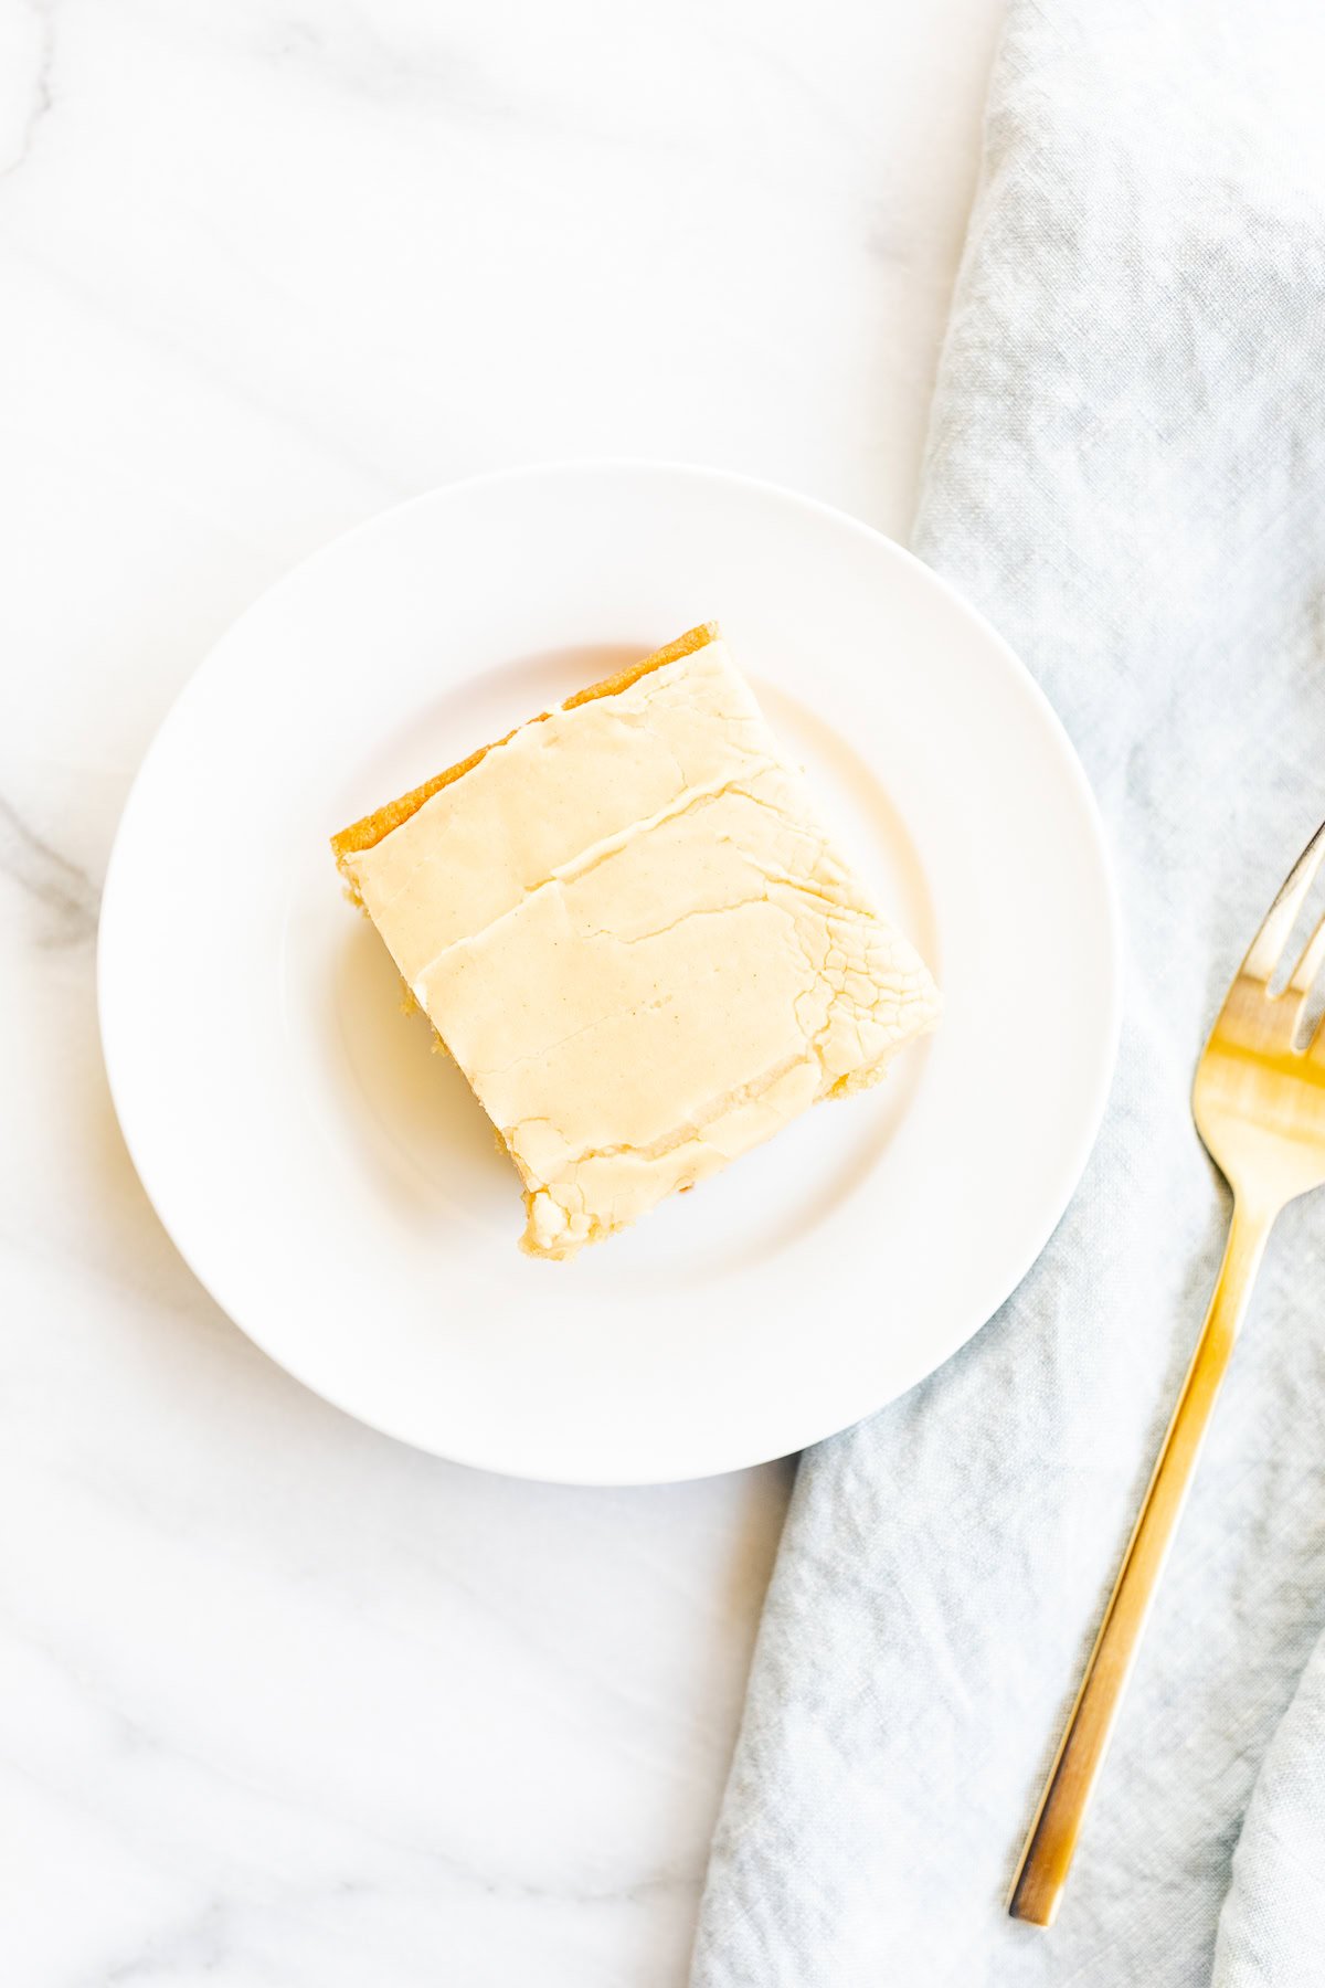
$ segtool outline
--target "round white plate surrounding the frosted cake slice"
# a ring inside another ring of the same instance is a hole
[[[572,1264],[399,1012],[328,835],[570,690],[721,620],[948,1002],[822,1105]],[[318,1394],[524,1477],[652,1483],[842,1429],[1043,1248],[1116,1044],[1085,775],[1011,650],[824,505],[667,465],[435,491],[250,608],[169,714],[101,914],[101,1032],[147,1193]]]

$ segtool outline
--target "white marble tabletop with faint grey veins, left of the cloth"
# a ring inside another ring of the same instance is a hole
[[[683,1982],[787,1467],[505,1483],[268,1366],[119,1141],[97,887],[209,642],[387,503],[640,453],[904,533],[997,16],[0,0],[14,1988]]]

